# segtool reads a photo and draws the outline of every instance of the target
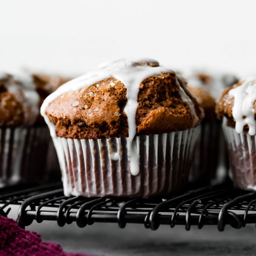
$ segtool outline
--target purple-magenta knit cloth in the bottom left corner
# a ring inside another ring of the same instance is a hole
[[[21,229],[13,219],[0,216],[0,256],[92,256],[64,252],[59,244],[44,243],[35,232]]]

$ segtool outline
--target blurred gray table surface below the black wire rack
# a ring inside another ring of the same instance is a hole
[[[12,211],[12,212],[15,212]],[[11,214],[15,217],[15,214]],[[83,229],[75,223],[58,227],[55,222],[33,222],[27,227],[41,234],[43,241],[59,243],[67,251],[106,256],[253,256],[256,255],[256,227],[243,229],[216,226],[199,230],[183,226],[161,226],[156,231],[140,224],[120,229],[115,223],[94,223]]]

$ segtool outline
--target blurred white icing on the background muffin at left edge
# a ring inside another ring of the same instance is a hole
[[[36,91],[33,78],[27,73],[0,74],[0,79],[7,78],[4,86],[15,99],[22,104],[24,123],[32,125],[39,115],[40,96]]]

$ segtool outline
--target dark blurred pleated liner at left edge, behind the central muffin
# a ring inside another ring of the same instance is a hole
[[[46,177],[47,127],[0,128],[0,186]]]

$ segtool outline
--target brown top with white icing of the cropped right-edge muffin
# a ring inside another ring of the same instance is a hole
[[[227,88],[216,105],[219,119],[226,118],[227,125],[237,133],[256,134],[256,77],[249,77]]]

